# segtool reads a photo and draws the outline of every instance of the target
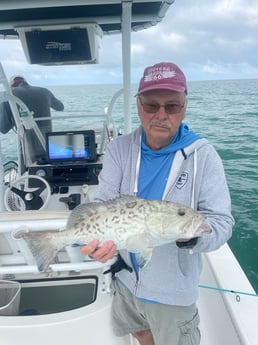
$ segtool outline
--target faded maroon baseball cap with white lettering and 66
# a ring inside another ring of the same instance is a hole
[[[176,64],[160,62],[145,68],[136,96],[157,89],[185,92],[187,94],[185,75]]]

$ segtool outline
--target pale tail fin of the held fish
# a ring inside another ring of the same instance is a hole
[[[45,272],[59,252],[58,247],[53,240],[53,235],[60,231],[28,231],[19,230],[14,234],[15,239],[24,239],[27,243],[40,272]]]

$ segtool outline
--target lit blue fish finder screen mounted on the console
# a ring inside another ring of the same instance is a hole
[[[96,161],[93,130],[47,133],[48,162]]]

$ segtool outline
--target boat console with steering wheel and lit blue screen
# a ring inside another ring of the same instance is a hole
[[[93,199],[102,169],[94,130],[49,132],[45,151],[7,189],[8,210],[65,211]]]

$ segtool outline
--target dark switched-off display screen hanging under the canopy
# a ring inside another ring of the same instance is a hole
[[[32,64],[91,61],[86,29],[34,30],[25,33]]]

